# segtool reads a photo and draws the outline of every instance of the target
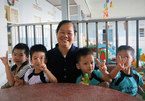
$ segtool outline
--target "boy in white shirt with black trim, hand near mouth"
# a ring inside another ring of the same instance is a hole
[[[46,48],[43,45],[34,45],[30,49],[30,62],[32,68],[29,69],[24,77],[28,84],[38,84],[52,82],[56,83],[57,79],[46,67]]]

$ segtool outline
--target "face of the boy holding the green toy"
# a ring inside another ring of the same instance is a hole
[[[78,69],[81,69],[83,73],[91,74],[94,70],[94,57],[93,55],[82,56],[78,64]]]

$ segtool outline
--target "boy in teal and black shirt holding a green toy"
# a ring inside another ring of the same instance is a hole
[[[89,77],[89,81],[90,81],[89,85],[99,85],[104,80],[108,82],[111,81],[109,77],[105,76],[108,74],[107,69],[105,67],[105,62],[103,63],[99,62],[99,69],[103,70],[103,74],[102,72],[100,72],[99,69],[94,70],[95,64],[94,64],[93,52],[89,48],[81,48],[78,50],[77,57],[76,57],[76,67],[82,71],[82,75],[80,75],[77,78],[76,83],[83,84],[82,79],[84,79],[84,75],[86,73],[88,74]]]

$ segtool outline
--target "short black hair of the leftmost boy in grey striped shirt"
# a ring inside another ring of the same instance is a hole
[[[20,49],[20,50],[24,50],[24,53],[26,56],[29,56],[29,47],[27,46],[27,44],[24,43],[18,43],[15,45],[15,47],[12,50],[12,53],[14,53],[15,49]]]

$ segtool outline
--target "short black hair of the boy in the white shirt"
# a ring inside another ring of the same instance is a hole
[[[46,56],[46,52],[47,52],[47,49],[44,45],[42,44],[36,44],[36,45],[33,45],[31,48],[30,48],[30,59],[32,60],[32,56],[34,54],[34,52],[44,52],[45,53],[45,56]]]

